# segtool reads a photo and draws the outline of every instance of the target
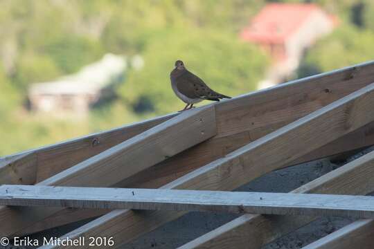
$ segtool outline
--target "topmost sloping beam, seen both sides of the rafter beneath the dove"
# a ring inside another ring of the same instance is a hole
[[[242,143],[244,140],[256,140],[260,136],[269,133],[269,131],[274,131],[274,129],[278,129],[284,124],[301,118],[315,109],[367,85],[374,77],[373,68],[374,62],[366,62],[328,73],[305,77],[287,84],[281,84],[272,89],[249,93],[242,95],[240,98],[222,102],[216,106],[217,112],[222,113],[222,115],[217,116],[217,129],[218,133],[221,134],[217,137],[246,131],[250,133],[251,137],[246,138],[244,134],[236,136],[235,140],[237,140],[237,143],[244,145]],[[247,108],[249,106],[251,109]],[[36,154],[37,169],[31,167],[30,170],[33,170],[33,172],[30,175],[37,176],[37,178],[29,177],[28,180],[37,183],[176,115],[177,113],[173,113],[109,131],[90,134],[89,136],[67,140],[55,145],[24,151],[15,156],[25,152]],[[233,123],[230,120],[235,120],[235,122]],[[248,126],[248,124],[251,125]],[[227,153],[230,149],[233,151],[232,148],[235,148],[235,146],[232,145],[232,142],[227,141],[221,150],[224,150],[224,148],[226,148],[225,151]],[[0,161],[3,159],[0,158]],[[17,167],[24,167],[24,164],[15,164],[12,167],[17,171]],[[168,171],[170,172],[170,170]],[[8,169],[6,172],[9,172]],[[170,176],[173,174],[175,172],[170,172]],[[10,182],[3,183],[10,184]],[[19,180],[17,184],[30,183]]]

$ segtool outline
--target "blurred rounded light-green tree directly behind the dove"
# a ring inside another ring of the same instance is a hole
[[[183,105],[170,88],[169,74],[177,59],[227,95],[256,89],[268,62],[258,48],[240,42],[235,35],[183,28],[162,33],[145,48],[143,57],[145,67],[129,72],[120,94],[136,111],[156,113],[176,111]]]

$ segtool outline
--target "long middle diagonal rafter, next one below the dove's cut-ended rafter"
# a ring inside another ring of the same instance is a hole
[[[370,84],[164,185],[163,188],[233,190],[372,122],[373,104],[374,84]],[[152,211],[139,216],[131,210],[115,210],[64,237],[114,234],[118,245],[121,245],[181,215]]]

